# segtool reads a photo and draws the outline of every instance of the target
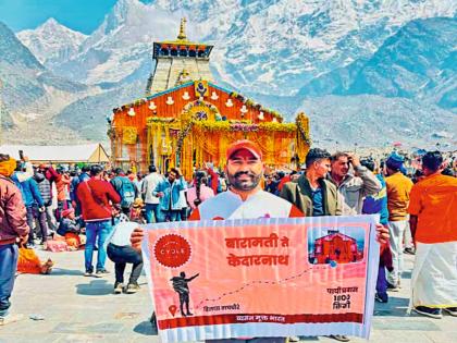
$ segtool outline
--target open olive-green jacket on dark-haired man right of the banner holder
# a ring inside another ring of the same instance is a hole
[[[319,183],[323,191],[324,216],[341,216],[343,204],[336,186],[324,179],[319,180]],[[281,191],[281,197],[298,207],[306,217],[312,217],[311,186],[305,175],[287,182]]]

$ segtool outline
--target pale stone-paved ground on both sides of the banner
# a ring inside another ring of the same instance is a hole
[[[25,315],[23,321],[0,328],[0,343],[21,342],[160,342],[147,319],[150,315],[147,284],[134,295],[112,294],[110,274],[103,279],[83,275],[83,252],[39,252],[55,262],[51,275],[22,274],[16,280],[12,310]],[[407,257],[404,287],[391,293],[388,304],[375,306],[370,342],[452,343],[457,342],[457,318],[431,319],[407,316],[412,258]],[[109,262],[108,268],[113,270]],[[35,321],[30,315],[45,319]],[[304,342],[335,342],[325,338]],[[365,342],[353,339],[351,342]]]

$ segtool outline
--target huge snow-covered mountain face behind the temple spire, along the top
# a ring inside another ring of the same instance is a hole
[[[370,57],[409,21],[456,13],[453,0],[119,0],[79,54],[54,71],[90,84],[145,77],[152,41],[174,39],[186,16],[192,39],[215,45],[212,68],[221,79],[258,93],[268,83],[275,94],[293,95],[322,73]]]

